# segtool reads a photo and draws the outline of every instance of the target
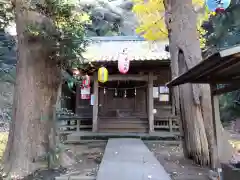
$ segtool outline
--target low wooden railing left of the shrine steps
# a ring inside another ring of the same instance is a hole
[[[89,117],[58,117],[58,133],[68,134],[79,131],[92,131],[92,118]]]

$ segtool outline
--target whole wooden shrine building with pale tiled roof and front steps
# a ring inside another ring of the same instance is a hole
[[[81,99],[63,85],[63,95],[76,116],[61,117],[63,132],[90,131],[109,133],[152,133],[178,130],[178,118],[172,112],[171,90],[165,84],[171,79],[169,53],[166,43],[153,43],[138,37],[93,37],[84,53],[86,62],[96,70],[91,77],[94,102]],[[130,60],[127,74],[118,71],[118,57],[125,52]],[[109,72],[108,82],[100,83],[97,69]],[[68,122],[68,124],[66,124]]]

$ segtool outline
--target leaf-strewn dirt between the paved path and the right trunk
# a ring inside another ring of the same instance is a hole
[[[146,145],[154,152],[173,180],[208,180],[209,169],[185,159],[179,144],[146,142]]]

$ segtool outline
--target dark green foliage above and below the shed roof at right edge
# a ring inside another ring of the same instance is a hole
[[[206,33],[206,48],[217,51],[240,44],[240,1],[232,0],[231,6],[223,13],[211,15],[202,24]],[[240,117],[240,91],[220,96],[220,115],[222,121],[235,120]]]

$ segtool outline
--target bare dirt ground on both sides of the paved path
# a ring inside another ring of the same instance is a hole
[[[170,144],[159,141],[146,141],[145,143],[173,180],[208,180],[209,169],[197,166],[191,160],[185,159],[178,143]],[[72,153],[76,155],[78,163],[70,167],[67,174],[96,177],[105,145],[106,142],[92,142],[69,146]]]

